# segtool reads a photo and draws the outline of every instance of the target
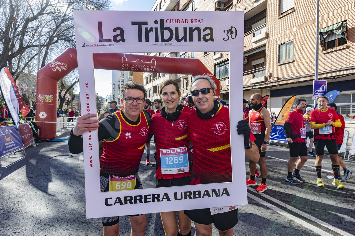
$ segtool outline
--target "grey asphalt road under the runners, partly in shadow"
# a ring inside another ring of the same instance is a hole
[[[154,150],[151,145],[151,153]],[[59,155],[72,157],[50,159]],[[354,235],[355,177],[343,181],[345,189],[335,188],[326,177],[331,174],[331,164],[325,156],[326,186],[320,188],[315,184],[315,157],[308,156],[300,172],[306,183],[291,186],[285,182],[288,155],[288,148],[268,146],[268,190],[258,194],[257,186],[248,187],[249,204],[239,208],[234,235]],[[145,159],[143,154],[140,177],[151,183],[145,188],[153,188],[155,169]],[[152,154],[150,159],[154,160]],[[4,166],[0,168],[0,236],[102,235],[101,219],[86,219],[82,155],[70,154],[66,142],[41,143],[27,148],[26,155],[17,153],[0,161]],[[344,162],[355,171],[354,159]],[[248,169],[246,161],[246,179]],[[261,179],[256,180],[260,184]],[[146,235],[164,235],[159,213],[146,216]],[[193,223],[191,226],[195,234]],[[128,217],[120,217],[120,235],[130,235]],[[218,235],[214,227],[213,235]]]

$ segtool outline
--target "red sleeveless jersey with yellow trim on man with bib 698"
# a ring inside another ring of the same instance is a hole
[[[100,171],[126,177],[138,171],[148,138],[149,126],[143,111],[137,125],[127,123],[122,117],[122,112],[119,110],[113,113],[120,121],[120,133],[113,141],[103,140]]]

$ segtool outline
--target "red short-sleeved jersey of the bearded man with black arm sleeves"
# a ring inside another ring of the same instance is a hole
[[[291,123],[290,138],[296,143],[305,142],[305,139],[301,138],[301,128],[306,128],[306,122],[302,114],[303,111],[296,108],[287,115],[285,120],[285,122]]]

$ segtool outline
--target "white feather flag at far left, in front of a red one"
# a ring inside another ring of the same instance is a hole
[[[18,101],[15,89],[12,86],[9,77],[5,72],[5,68],[0,70],[0,88],[2,96],[4,97],[7,109],[11,114],[12,120],[15,123],[16,127],[18,128],[18,124],[20,123],[20,115],[18,109]]]

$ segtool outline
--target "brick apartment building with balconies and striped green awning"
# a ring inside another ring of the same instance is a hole
[[[267,107],[276,114],[294,94],[313,104],[316,1],[157,0],[153,10],[244,11],[244,98],[268,94]],[[355,114],[354,11],[354,0],[320,1],[318,79],[327,80],[327,91],[342,91],[334,101],[342,115]],[[189,52],[187,56],[200,59],[214,73],[221,81],[221,99],[229,100],[233,75],[229,78],[228,52]],[[188,77],[187,84],[190,82]],[[145,83],[152,87],[152,94],[158,91],[159,84],[155,89],[154,83]],[[352,127],[350,119],[345,117],[345,121]]]

